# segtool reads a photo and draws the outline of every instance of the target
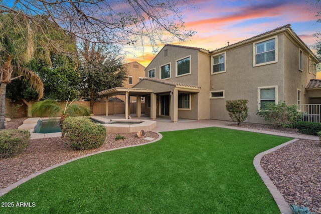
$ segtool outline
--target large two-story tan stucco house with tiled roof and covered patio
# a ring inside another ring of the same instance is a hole
[[[145,95],[152,119],[231,120],[226,100],[248,99],[246,121],[264,123],[256,113],[265,102],[321,103],[317,63],[287,24],[213,51],[166,44],[133,88],[152,90]]]

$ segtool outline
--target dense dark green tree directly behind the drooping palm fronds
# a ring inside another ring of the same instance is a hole
[[[34,58],[26,67],[42,79],[44,96],[57,97],[58,100],[67,100],[69,95],[72,99],[79,96],[82,78],[71,58],[52,53],[51,65],[43,59]],[[24,77],[13,80],[7,87],[7,97],[12,100],[22,99],[28,106],[28,116],[32,116],[30,107],[38,96]]]

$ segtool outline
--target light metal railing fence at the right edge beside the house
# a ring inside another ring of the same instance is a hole
[[[303,121],[320,122],[321,104],[299,104],[298,109]]]

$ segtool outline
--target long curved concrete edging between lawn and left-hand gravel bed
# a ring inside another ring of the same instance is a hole
[[[79,157],[75,157],[73,159],[69,159],[69,160],[66,160],[66,161],[63,161],[61,163],[57,163],[55,165],[52,165],[52,166],[49,166],[41,171],[38,171],[36,173],[33,173],[27,177],[24,177],[22,179],[20,179],[19,181],[15,182],[15,183],[12,183],[10,184],[9,186],[7,186],[6,188],[3,188],[3,189],[0,189],[0,197],[5,195],[7,192],[9,192],[10,190],[16,188],[17,186],[23,184],[24,182],[42,174],[42,173],[45,173],[46,171],[49,171],[53,168],[57,168],[58,166],[61,166],[61,165],[64,165],[66,163],[70,163],[72,161],[75,161],[75,160],[78,160],[78,159],[81,159],[81,158],[84,158],[84,157],[88,157],[88,156],[91,156],[91,155],[94,155],[94,154],[99,154],[99,153],[102,153],[102,152],[106,152],[106,151],[112,151],[112,150],[117,150],[117,149],[121,149],[121,148],[129,148],[129,147],[134,147],[134,146],[139,146],[139,145],[145,145],[145,144],[149,144],[149,143],[152,143],[152,142],[156,142],[160,139],[163,138],[163,135],[159,132],[156,132],[156,131],[153,131],[155,133],[158,134],[158,138],[157,139],[154,139],[154,140],[151,140],[149,142],[144,142],[144,143],[140,143],[140,144],[135,144],[135,145],[127,145],[127,146],[122,146],[122,147],[117,147],[117,148],[111,148],[111,149],[107,149],[107,150],[102,150],[102,151],[96,151],[96,152],[93,152],[93,153],[90,153],[90,154],[85,154],[85,155],[82,155],[82,156],[79,156]]]

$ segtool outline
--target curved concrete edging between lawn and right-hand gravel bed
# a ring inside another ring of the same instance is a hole
[[[279,207],[281,214],[292,214],[292,210],[290,209],[289,204],[285,201],[283,195],[280,193],[280,191],[276,188],[276,186],[273,184],[272,180],[267,176],[267,174],[265,173],[265,171],[263,170],[262,166],[261,166],[261,159],[265,154],[271,153],[285,145],[288,145],[294,141],[298,140],[297,138],[292,139],[290,141],[287,141],[285,143],[282,143],[278,146],[275,146],[273,148],[270,148],[266,151],[263,151],[259,154],[257,154],[254,157],[253,160],[253,165],[257,171],[257,173],[260,175],[260,177],[262,178],[264,184],[266,185],[266,187],[268,188],[268,190],[270,191],[270,193],[272,194],[272,197],[274,198],[277,206]]]

